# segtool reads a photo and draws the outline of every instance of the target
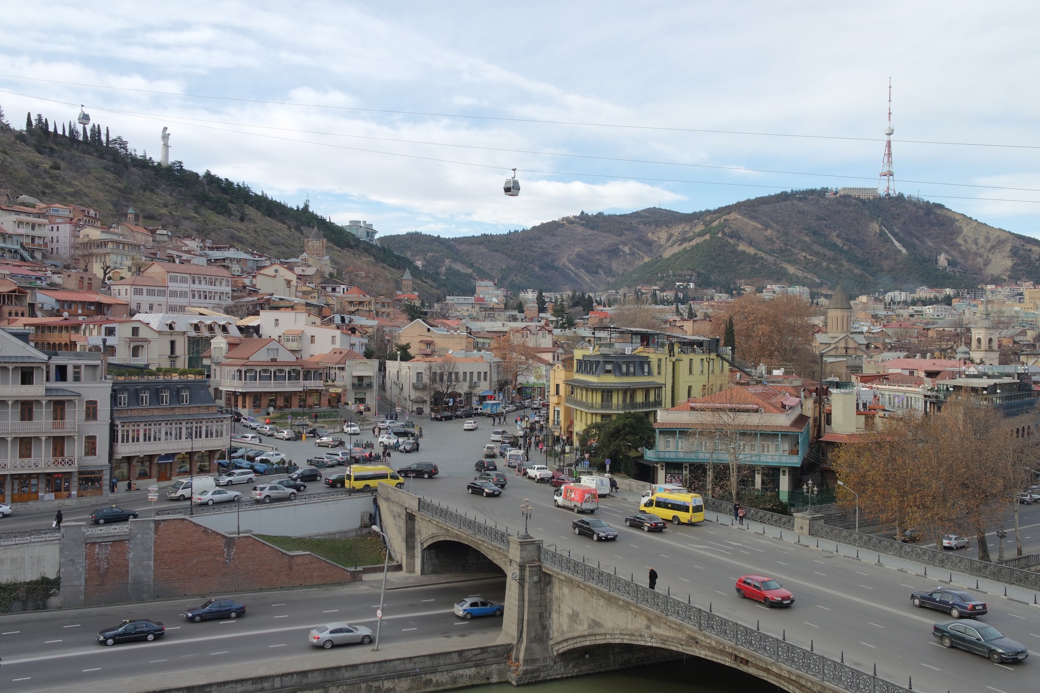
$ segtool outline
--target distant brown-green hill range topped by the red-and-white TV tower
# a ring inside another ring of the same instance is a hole
[[[381,239],[428,270],[497,278],[513,291],[602,290],[694,281],[850,291],[965,288],[1040,279],[1040,241],[902,195],[784,192],[694,213],[651,208],[565,217],[505,235]],[[945,254],[950,269],[937,264]]]

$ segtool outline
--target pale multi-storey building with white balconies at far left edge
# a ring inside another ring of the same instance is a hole
[[[0,502],[101,496],[108,488],[109,399],[101,354],[46,352],[0,329]]]

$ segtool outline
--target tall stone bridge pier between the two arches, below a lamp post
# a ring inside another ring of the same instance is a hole
[[[549,577],[542,571],[542,540],[510,537],[506,570],[505,614],[499,642],[515,643],[510,682],[514,685],[539,681],[540,670],[553,662]]]

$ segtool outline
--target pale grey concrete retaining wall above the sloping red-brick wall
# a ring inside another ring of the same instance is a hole
[[[234,534],[240,523],[243,532],[253,534],[312,536],[358,530],[361,514],[373,510],[371,496],[294,505],[271,503],[256,508],[251,507],[251,503],[242,501],[244,507],[241,512],[194,515],[193,519],[211,530],[228,534]]]

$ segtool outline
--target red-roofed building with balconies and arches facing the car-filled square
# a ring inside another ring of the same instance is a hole
[[[224,405],[250,415],[323,405],[324,367],[297,357],[269,338],[246,338],[230,345],[210,344],[214,388]]]

